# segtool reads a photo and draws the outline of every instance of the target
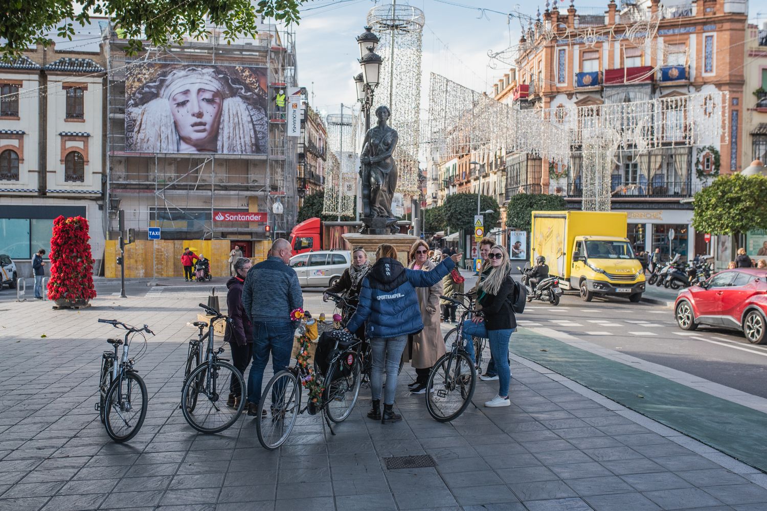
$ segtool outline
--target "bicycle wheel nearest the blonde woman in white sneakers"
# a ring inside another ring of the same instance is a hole
[[[449,422],[466,410],[474,395],[476,369],[463,350],[448,352],[432,368],[426,382],[426,410],[439,422]]]

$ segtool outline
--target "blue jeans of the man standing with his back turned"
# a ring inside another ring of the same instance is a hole
[[[258,405],[261,401],[261,387],[264,369],[272,352],[272,369],[275,374],[290,365],[293,350],[293,323],[253,322],[253,364],[248,375],[248,401]]]

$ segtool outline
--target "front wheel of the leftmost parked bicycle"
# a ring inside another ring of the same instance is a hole
[[[146,384],[135,372],[126,372],[112,382],[104,409],[109,437],[119,443],[135,437],[146,418],[148,402]]]

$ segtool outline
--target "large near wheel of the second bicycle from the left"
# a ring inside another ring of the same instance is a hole
[[[193,370],[181,391],[183,403],[189,401],[190,393],[198,394],[194,410],[186,406],[181,408],[190,426],[200,433],[220,433],[237,421],[245,408],[245,400],[241,399],[236,409],[226,405],[232,378],[239,382],[240,388],[245,388],[242,374],[228,362],[216,360]]]

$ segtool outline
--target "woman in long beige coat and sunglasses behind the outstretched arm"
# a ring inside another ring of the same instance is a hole
[[[410,269],[429,271],[436,264],[429,260],[429,245],[425,241],[416,241],[410,247]],[[424,394],[426,381],[436,361],[445,354],[445,341],[439,325],[439,295],[442,294],[442,281],[432,287],[416,287],[418,304],[423,319],[423,330],[410,336],[404,352],[404,359],[410,360],[416,368],[416,381],[408,385],[411,394]]]

